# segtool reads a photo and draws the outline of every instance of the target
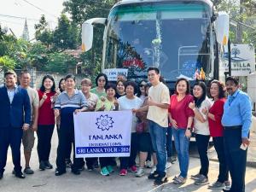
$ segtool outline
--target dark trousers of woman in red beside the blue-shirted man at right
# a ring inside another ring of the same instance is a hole
[[[224,153],[224,137],[212,137],[212,141],[218,155],[218,182],[224,183],[229,180],[229,169]]]

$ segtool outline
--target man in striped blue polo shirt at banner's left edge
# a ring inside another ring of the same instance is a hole
[[[75,89],[75,77],[68,74],[65,78],[66,90],[57,97],[55,102],[55,116],[58,117],[61,112],[60,139],[57,149],[55,176],[61,176],[66,172],[65,154],[69,143],[73,143],[75,151],[73,113],[79,113],[87,110],[87,103],[83,93]],[[73,154],[73,174],[79,175],[79,166],[81,159],[75,158]]]

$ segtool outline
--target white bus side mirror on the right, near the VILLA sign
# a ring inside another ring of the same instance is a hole
[[[226,12],[219,12],[215,20],[215,27],[218,44],[227,45],[230,31],[230,16]]]

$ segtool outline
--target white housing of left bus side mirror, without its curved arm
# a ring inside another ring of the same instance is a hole
[[[88,51],[91,49],[93,39],[93,26],[90,23],[82,25],[82,50]]]

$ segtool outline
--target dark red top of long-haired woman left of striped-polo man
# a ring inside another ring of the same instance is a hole
[[[55,125],[55,113],[52,108],[52,103],[50,101],[51,96],[55,96],[55,92],[46,93],[47,99],[44,101],[41,108],[39,108],[38,114],[38,125]],[[38,90],[39,101],[41,101],[44,96],[44,92]]]

